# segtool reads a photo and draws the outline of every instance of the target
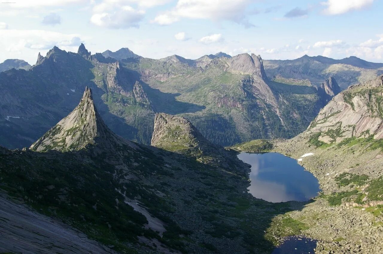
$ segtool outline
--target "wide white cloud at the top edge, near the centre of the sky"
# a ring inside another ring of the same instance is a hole
[[[251,0],[178,0],[176,6],[157,15],[152,22],[166,25],[181,18],[202,20],[230,20],[246,27],[252,26],[246,19],[246,8]]]

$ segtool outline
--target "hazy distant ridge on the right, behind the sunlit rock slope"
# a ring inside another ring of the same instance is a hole
[[[357,57],[336,60],[304,55],[294,60],[264,60],[264,64],[268,77],[275,80],[278,76],[300,81],[308,79],[319,86],[323,80],[333,76],[342,89],[383,74],[383,63],[371,63]]]

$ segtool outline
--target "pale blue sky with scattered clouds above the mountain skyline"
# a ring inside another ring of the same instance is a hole
[[[8,2],[9,1],[9,2]],[[8,0],[0,62],[36,63],[53,46],[197,59],[219,51],[263,59],[305,54],[383,62],[383,0]]]

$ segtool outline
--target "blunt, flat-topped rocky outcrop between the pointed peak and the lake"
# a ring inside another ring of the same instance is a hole
[[[207,142],[200,132],[187,119],[165,113],[155,114],[152,146],[162,146],[167,143],[178,145],[196,145]]]

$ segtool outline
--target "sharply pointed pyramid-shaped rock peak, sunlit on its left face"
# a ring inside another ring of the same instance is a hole
[[[89,144],[115,149],[130,142],[111,132],[98,114],[90,88],[85,88],[79,105],[30,147],[36,151],[73,151]],[[133,146],[133,145],[132,145]]]

